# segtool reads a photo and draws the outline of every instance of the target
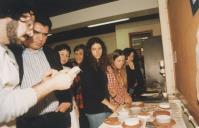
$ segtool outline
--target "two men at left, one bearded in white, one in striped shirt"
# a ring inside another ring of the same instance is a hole
[[[62,70],[59,61],[52,61],[51,57],[49,63],[40,63],[40,59],[47,60],[45,52],[51,56],[48,52],[51,50],[41,44],[50,27],[40,21],[36,23],[35,11],[26,4],[9,2],[0,9],[0,127],[66,127],[69,117],[59,112],[61,108],[57,106],[65,102],[61,90],[70,88],[80,69]],[[38,40],[40,36],[42,41]],[[35,51],[39,52],[34,54]],[[54,95],[60,96],[59,103]],[[35,105],[48,107],[35,112],[36,109],[32,110]]]

